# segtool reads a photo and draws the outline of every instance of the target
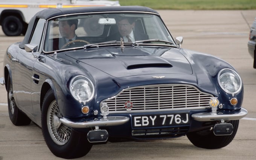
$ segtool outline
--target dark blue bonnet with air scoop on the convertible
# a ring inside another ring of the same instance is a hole
[[[116,78],[149,74],[190,75],[193,73],[187,59],[175,48],[128,47],[123,51],[120,48],[107,48],[68,52],[66,55]]]

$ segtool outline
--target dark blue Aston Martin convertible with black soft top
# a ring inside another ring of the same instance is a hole
[[[197,147],[225,147],[247,114],[242,79],[182,41],[148,7],[40,11],[5,54],[9,117],[34,121],[67,159],[107,141],[185,135]]]

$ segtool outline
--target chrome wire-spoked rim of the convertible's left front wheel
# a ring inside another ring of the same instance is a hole
[[[59,121],[61,117],[57,101],[54,100],[47,112],[47,128],[52,140],[58,145],[66,144],[71,135],[71,129]]]

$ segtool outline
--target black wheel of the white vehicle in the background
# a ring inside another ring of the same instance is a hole
[[[24,31],[23,22],[17,16],[6,16],[2,22],[2,29],[6,36],[20,36]]]

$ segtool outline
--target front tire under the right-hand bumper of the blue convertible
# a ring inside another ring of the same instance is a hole
[[[218,149],[227,146],[233,140],[238,130],[239,120],[229,121],[234,127],[234,131],[229,136],[216,136],[213,131],[203,130],[199,132],[187,133],[189,141],[197,147],[207,149]]]

